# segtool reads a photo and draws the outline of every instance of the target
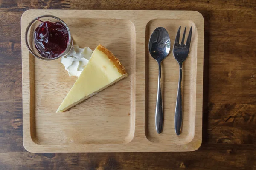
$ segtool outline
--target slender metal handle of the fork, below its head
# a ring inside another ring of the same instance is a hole
[[[182,124],[181,82],[182,82],[182,64],[180,64],[180,77],[179,77],[178,93],[177,93],[175,116],[174,116],[174,127],[175,127],[176,135],[180,135],[181,124]]]

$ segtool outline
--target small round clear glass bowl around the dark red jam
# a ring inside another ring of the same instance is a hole
[[[44,57],[43,55],[40,54],[40,52],[35,47],[35,37],[34,37],[35,29],[42,22],[45,22],[45,21],[59,22],[67,29],[67,32],[68,32],[69,40],[68,40],[68,43],[67,43],[67,48],[65,49],[65,51],[63,53],[59,54],[57,57],[54,57],[54,58]],[[43,16],[37,17],[34,20],[32,20],[26,28],[25,41],[26,41],[26,46],[29,49],[29,52],[31,54],[33,54],[35,57],[37,57],[39,59],[43,59],[43,60],[54,60],[54,59],[60,58],[61,56],[66,55],[70,51],[70,49],[72,47],[72,43],[73,43],[72,38],[71,38],[71,34],[70,34],[70,30],[69,30],[67,24],[64,23],[64,21],[61,20],[60,18],[55,17],[53,15],[43,15]]]

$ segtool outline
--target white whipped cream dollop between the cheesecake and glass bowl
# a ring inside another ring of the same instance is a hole
[[[61,63],[65,66],[69,76],[79,77],[92,53],[89,47],[79,48],[78,45],[73,45],[70,52],[61,57]]]

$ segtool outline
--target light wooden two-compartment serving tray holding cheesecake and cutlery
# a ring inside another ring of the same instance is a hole
[[[76,81],[60,59],[29,54],[24,35],[29,22],[44,14],[60,17],[73,43],[107,47],[125,66],[128,78],[65,113],[56,109]],[[183,128],[174,130],[179,68],[172,53],[163,61],[163,133],[154,112],[157,62],[148,53],[152,31],[163,26],[171,46],[179,26],[192,26],[183,66]],[[196,11],[28,10],[21,18],[23,144],[29,152],[164,152],[197,150],[202,139],[204,19]]]

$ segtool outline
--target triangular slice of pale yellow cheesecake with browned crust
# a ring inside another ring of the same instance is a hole
[[[67,111],[125,77],[127,73],[119,60],[107,48],[98,45],[56,112]]]

